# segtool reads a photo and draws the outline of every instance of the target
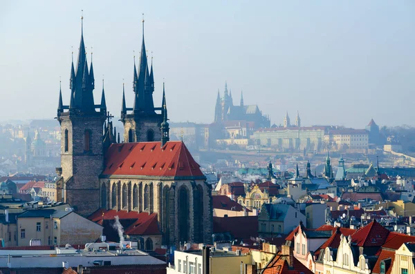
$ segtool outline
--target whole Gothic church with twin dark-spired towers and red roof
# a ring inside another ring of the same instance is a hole
[[[149,68],[145,52],[143,21],[132,108],[127,108],[124,90],[122,94],[124,142],[120,143],[107,112],[104,87],[101,103],[93,100],[93,64],[87,63],[82,28],[77,63],[71,66],[68,106],[59,90],[62,144],[57,200],[83,216],[98,210],[156,214],[162,244],[210,243],[210,186],[183,141],[169,141],[164,84],[162,106],[155,107],[153,66]]]

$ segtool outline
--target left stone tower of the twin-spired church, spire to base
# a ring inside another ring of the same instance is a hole
[[[61,126],[61,168],[57,180],[57,201],[71,204],[80,215],[100,208],[100,182],[103,168],[102,129],[107,106],[95,105],[93,90],[92,55],[88,68],[84,45],[83,17],[81,43],[76,71],[71,67],[71,101],[64,106],[62,90],[59,90],[57,120]],[[102,94],[104,97],[104,94]],[[98,109],[98,110],[97,110]],[[67,111],[66,111],[67,110]]]

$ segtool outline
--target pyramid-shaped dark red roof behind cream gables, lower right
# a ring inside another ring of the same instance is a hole
[[[351,241],[357,246],[382,246],[388,235],[389,231],[374,220],[353,233]]]

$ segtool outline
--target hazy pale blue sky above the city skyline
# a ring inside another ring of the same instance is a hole
[[[379,0],[1,1],[0,120],[55,117],[59,76],[68,104],[82,9],[95,104],[104,75],[117,116],[145,13],[154,101],[164,78],[172,121],[211,122],[228,81],[234,104],[243,90],[276,124],[299,110],[303,125],[415,126],[415,2]]]

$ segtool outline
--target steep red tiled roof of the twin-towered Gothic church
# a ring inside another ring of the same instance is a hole
[[[183,141],[111,144],[105,154],[102,175],[196,177],[204,179]]]

